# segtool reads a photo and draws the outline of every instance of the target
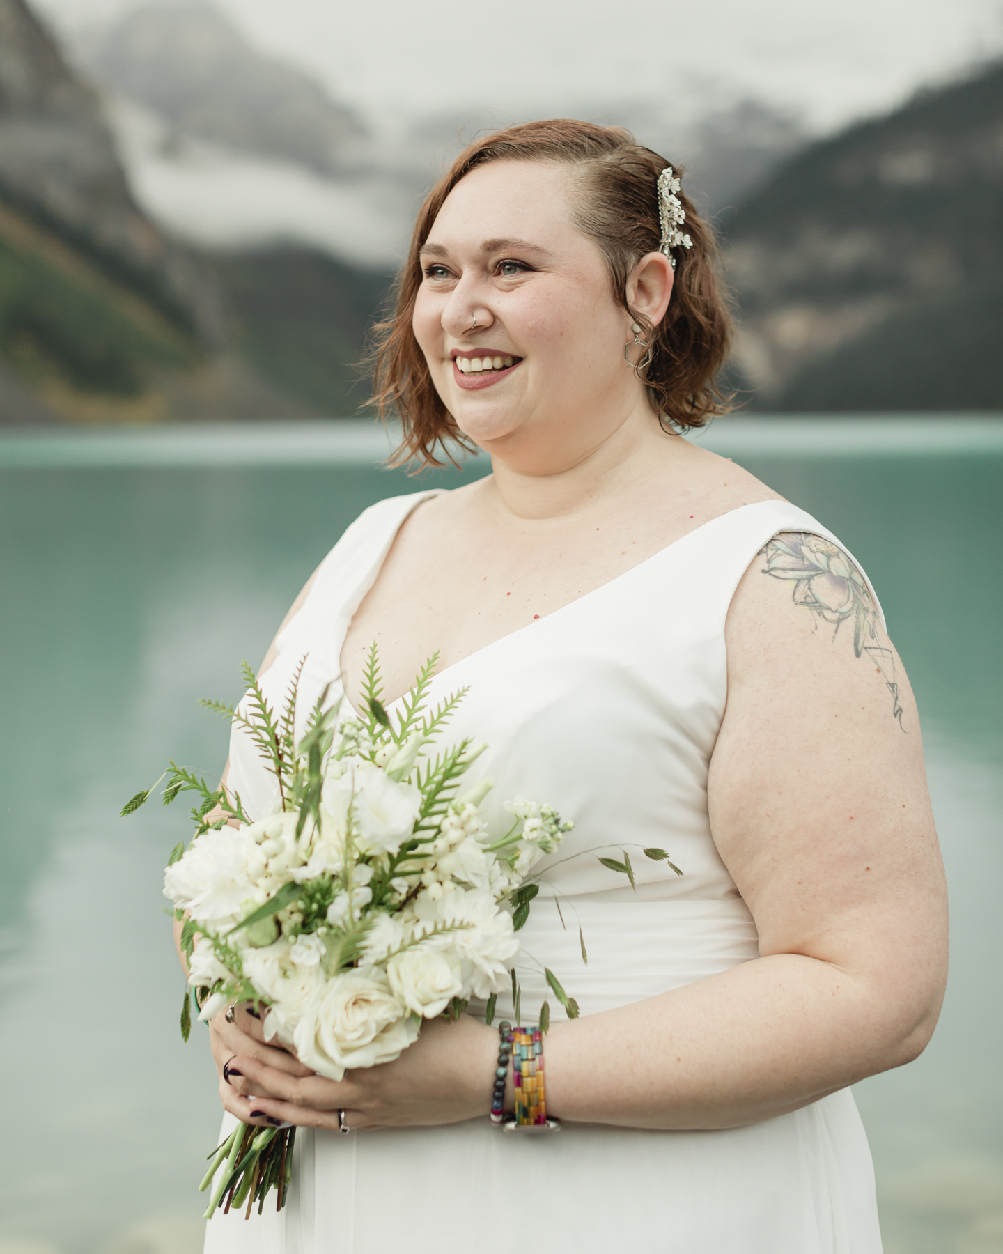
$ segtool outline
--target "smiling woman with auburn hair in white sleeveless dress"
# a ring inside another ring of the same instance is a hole
[[[366,510],[262,682],[281,703],[308,655],[301,705],[330,682],[346,712],[372,641],[387,698],[438,650],[495,795],[574,819],[519,967],[524,1013],[544,963],[582,1007],[544,1038],[563,1130],[491,1124],[476,1006],[340,1083],[231,1009],[226,1126],[302,1131],[285,1210],[218,1213],[209,1254],[880,1250],[848,1086],[920,1053],[947,962],[919,722],[853,557],[678,434],[721,408],[715,273],[673,172],[618,128],[489,135],[425,201],[377,399],[402,458],[465,441],[493,474]],[[267,800],[238,732],[228,772]],[[634,889],[589,851],[633,845],[682,874],[638,856]]]

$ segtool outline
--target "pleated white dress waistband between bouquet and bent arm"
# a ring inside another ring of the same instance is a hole
[[[543,968],[557,976],[583,1014],[616,1009],[682,988],[759,957],[759,934],[741,898],[718,900],[560,902],[560,914],[544,894],[533,903],[519,932],[515,973],[522,1018],[535,1022],[544,999],[552,1016],[563,1011]],[[563,917],[563,924],[562,924]],[[580,939],[579,939],[580,927]],[[582,961],[582,940],[588,964]],[[483,1003],[471,1003],[483,1014]],[[512,1018],[512,993],[499,994],[496,1018]]]

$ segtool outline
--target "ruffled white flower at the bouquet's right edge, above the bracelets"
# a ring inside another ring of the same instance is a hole
[[[415,898],[415,915],[431,932],[435,927],[451,930],[433,937],[435,948],[451,949],[463,961],[464,996],[490,997],[500,992],[512,977],[509,967],[519,952],[512,915],[501,910],[490,893],[458,888],[433,899],[428,890]]]

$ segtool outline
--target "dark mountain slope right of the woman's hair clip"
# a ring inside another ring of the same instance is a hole
[[[722,224],[750,408],[1003,409],[1003,65],[814,143]]]

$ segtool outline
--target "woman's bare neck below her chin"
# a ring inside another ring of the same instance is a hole
[[[602,430],[558,433],[549,449],[488,449],[493,475],[485,492],[491,508],[512,518],[557,522],[592,510],[597,502],[616,508],[623,492],[636,492],[687,449],[642,404]]]

